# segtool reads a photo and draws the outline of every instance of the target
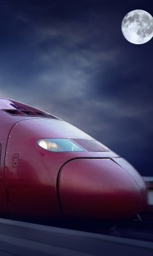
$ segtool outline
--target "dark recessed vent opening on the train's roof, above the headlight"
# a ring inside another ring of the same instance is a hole
[[[50,114],[43,113],[41,111],[29,111],[25,109],[3,109],[6,113],[10,115],[15,116],[36,116],[36,117],[43,117],[43,118],[52,118],[52,119],[58,119],[55,116],[52,116]]]

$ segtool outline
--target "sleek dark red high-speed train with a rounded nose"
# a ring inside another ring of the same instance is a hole
[[[54,115],[0,98],[0,217],[132,219],[147,189],[125,159]]]

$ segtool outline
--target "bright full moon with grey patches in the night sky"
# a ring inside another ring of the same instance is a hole
[[[145,44],[153,36],[153,18],[143,10],[129,12],[122,20],[122,33],[132,44]]]

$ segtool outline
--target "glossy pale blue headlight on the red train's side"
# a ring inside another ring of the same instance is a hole
[[[69,139],[42,139],[38,140],[37,144],[41,148],[52,152],[85,151]]]

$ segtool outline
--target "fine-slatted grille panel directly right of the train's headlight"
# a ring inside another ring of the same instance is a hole
[[[75,143],[77,143],[80,147],[83,147],[85,150],[89,152],[104,152],[110,151],[103,144],[99,143],[96,140],[86,140],[86,139],[71,139]]]

